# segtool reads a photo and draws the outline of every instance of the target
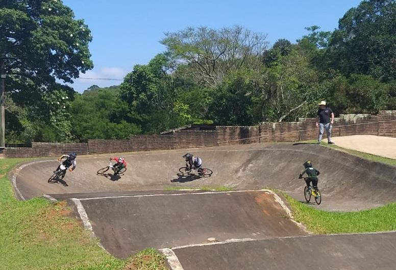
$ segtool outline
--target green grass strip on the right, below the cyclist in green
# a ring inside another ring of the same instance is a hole
[[[294,219],[315,234],[396,230],[396,203],[359,212],[328,212],[300,203],[285,192]]]

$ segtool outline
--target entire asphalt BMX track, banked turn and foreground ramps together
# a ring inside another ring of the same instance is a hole
[[[179,174],[191,152],[209,178]],[[15,169],[19,199],[69,200],[87,229],[117,257],[154,247],[172,269],[395,269],[396,233],[311,235],[266,187],[303,200],[298,179],[309,159],[320,170],[319,207],[349,211],[396,201],[395,167],[313,144],[250,144],[125,154],[120,177],[96,175],[109,155],[78,157],[63,183],[47,183],[56,160]],[[235,191],[166,190],[228,186]],[[314,259],[316,258],[316,259]]]

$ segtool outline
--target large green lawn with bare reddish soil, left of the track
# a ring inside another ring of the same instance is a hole
[[[102,250],[79,220],[68,216],[65,202],[52,204],[42,198],[17,201],[7,174],[26,160],[0,159],[0,270],[157,269],[159,255],[152,264],[147,257],[144,268],[127,268],[129,260]]]

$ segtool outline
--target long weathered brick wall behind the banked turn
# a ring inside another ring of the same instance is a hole
[[[341,114],[335,118],[332,136],[380,135],[396,137],[396,121],[380,124],[364,124],[377,121],[396,120],[396,111],[380,111],[378,115]],[[347,126],[347,127],[344,127]],[[282,133],[282,134],[280,134]],[[6,157],[57,156],[76,151],[80,155],[117,153],[150,150],[201,148],[226,144],[248,144],[269,141],[299,141],[316,139],[318,129],[315,118],[301,118],[298,122],[262,122],[252,127],[221,127],[215,130],[178,130],[165,135],[133,135],[129,140],[89,140],[88,143],[45,143],[34,142],[32,148],[6,148]],[[259,136],[262,136],[259,138]],[[253,138],[252,138],[253,137]],[[251,138],[246,140],[239,140]],[[326,139],[326,132],[323,139]]]

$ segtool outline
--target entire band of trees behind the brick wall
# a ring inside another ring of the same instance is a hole
[[[396,109],[393,0],[363,1],[333,32],[311,26],[296,42],[271,46],[265,34],[240,26],[167,33],[164,52],[135,65],[121,85],[93,85],[82,94],[59,81],[92,68],[88,26],[61,2],[31,3],[0,7],[7,143],[294,121],[314,117],[321,100],[336,114]]]

